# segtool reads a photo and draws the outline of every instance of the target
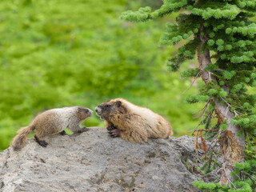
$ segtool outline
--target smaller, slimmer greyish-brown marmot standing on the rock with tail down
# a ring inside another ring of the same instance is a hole
[[[79,124],[82,120],[89,118],[93,113],[92,110],[84,106],[70,106],[46,110],[42,114],[38,114],[30,126],[18,130],[18,135],[14,138],[12,146],[14,146],[14,150],[22,149],[26,144],[27,135],[33,130],[36,130],[34,134],[35,141],[43,147],[48,145],[43,138],[52,134],[66,134],[66,128],[73,133],[87,131],[89,130],[88,128],[81,128]]]

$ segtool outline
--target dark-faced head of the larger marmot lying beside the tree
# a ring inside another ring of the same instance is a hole
[[[118,114],[122,115],[126,113],[126,107],[124,106],[124,99],[115,98],[107,102],[102,102],[99,106],[96,106],[96,114],[105,120],[110,120]]]

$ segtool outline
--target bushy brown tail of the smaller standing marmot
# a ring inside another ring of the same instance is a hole
[[[27,135],[34,130],[33,126],[26,126],[18,130],[18,135],[15,136],[12,145],[14,150],[22,149],[26,144]]]

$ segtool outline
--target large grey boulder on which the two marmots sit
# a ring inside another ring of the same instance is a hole
[[[136,144],[91,127],[46,142],[43,148],[30,138],[22,150],[0,154],[0,191],[196,191],[191,182],[202,179],[192,171],[196,152],[188,136]]]

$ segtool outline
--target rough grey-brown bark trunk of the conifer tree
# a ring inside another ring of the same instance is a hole
[[[200,38],[201,43],[198,46],[198,62],[199,70],[202,76],[203,82],[207,83],[210,79],[216,81],[214,76],[211,76],[209,71],[204,70],[206,66],[209,65],[210,61],[210,50],[206,49],[202,53],[202,47],[207,42],[208,38],[206,35],[201,36],[203,29],[203,22],[198,31],[198,38]],[[229,93],[229,88],[222,86],[227,93]],[[231,124],[231,119],[234,118],[234,115],[230,112],[229,106],[227,103],[221,104],[218,101],[218,98],[214,98],[215,102],[215,113],[218,116],[218,123],[226,121],[227,129],[222,131],[220,138],[220,150],[222,153],[222,184],[232,184],[234,178],[230,176],[230,173],[234,171],[234,162],[243,162],[244,161],[244,147],[245,147],[245,136],[242,134],[241,137],[238,137],[237,134],[241,130],[239,126],[234,126]]]

